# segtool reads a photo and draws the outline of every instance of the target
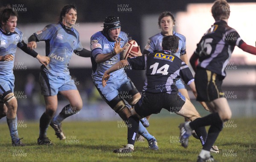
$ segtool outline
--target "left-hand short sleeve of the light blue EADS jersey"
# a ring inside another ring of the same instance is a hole
[[[35,32],[34,35],[38,41],[40,40],[50,40],[54,33],[56,32],[56,27],[53,24],[49,24],[44,29]]]

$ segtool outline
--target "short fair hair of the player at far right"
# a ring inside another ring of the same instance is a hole
[[[212,6],[212,17],[215,21],[228,19],[230,16],[230,6],[226,0],[216,0]]]

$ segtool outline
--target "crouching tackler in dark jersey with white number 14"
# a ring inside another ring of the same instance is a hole
[[[189,67],[173,54],[178,50],[179,38],[175,35],[165,36],[163,38],[163,50],[155,51],[136,58],[128,58],[114,64],[106,70],[102,77],[102,86],[107,87],[111,74],[116,70],[129,66],[131,69],[143,70],[147,84],[145,84],[145,93],[135,108],[131,112],[128,124],[128,144],[125,148],[114,150],[115,153],[128,153],[134,150],[135,137],[138,132],[139,120],[151,114],[160,113],[162,108],[184,116],[191,121],[200,118],[199,113],[193,104],[184,97],[177,89],[175,81],[182,78],[189,85],[192,92],[196,95],[194,78]],[[205,127],[195,130],[201,134],[206,131]],[[204,142],[204,139],[201,139]],[[182,142],[183,147],[187,147],[187,142]]]

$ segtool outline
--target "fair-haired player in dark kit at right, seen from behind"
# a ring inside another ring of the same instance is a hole
[[[247,45],[240,38],[238,32],[227,25],[230,6],[226,0],[214,2],[212,16],[215,23],[201,38],[197,49],[190,58],[190,63],[195,70],[197,100],[205,101],[211,114],[183,124],[183,136],[181,136],[181,139],[187,139],[192,130],[210,125],[207,140],[198,155],[198,162],[215,161],[209,150],[222,130],[223,121],[229,120],[232,115],[227,99],[223,97],[221,84],[226,76],[225,67],[235,46],[256,55],[256,48]]]

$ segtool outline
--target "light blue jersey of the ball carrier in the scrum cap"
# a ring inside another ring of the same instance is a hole
[[[120,32],[118,39],[121,38],[120,46],[123,47],[125,43],[128,41],[127,34],[125,32]],[[120,60],[120,55],[117,54],[113,56],[108,61],[102,62],[100,64],[97,64],[95,61],[95,58],[97,55],[110,53],[114,50],[114,44],[115,41],[109,41],[105,35],[103,35],[101,32],[96,32],[91,38],[90,38],[90,46],[91,46],[91,61],[92,61],[92,77],[94,81],[101,81],[102,76],[104,72],[112,67],[113,64],[116,64]],[[110,77],[110,80],[115,79],[121,75],[126,75],[124,69],[119,69],[115,72],[112,72]]]

